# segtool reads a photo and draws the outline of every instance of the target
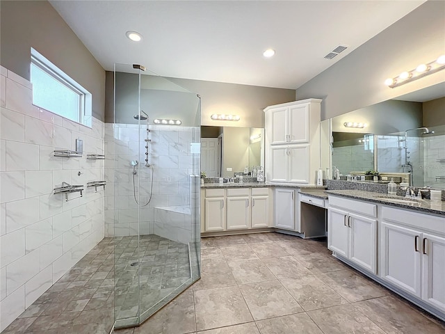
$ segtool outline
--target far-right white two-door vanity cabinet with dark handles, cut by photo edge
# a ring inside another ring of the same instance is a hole
[[[445,312],[445,219],[382,206],[380,277]]]

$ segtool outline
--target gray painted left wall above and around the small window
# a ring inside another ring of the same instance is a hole
[[[104,120],[105,71],[47,1],[0,1],[0,62],[29,80],[31,47],[92,94]]]

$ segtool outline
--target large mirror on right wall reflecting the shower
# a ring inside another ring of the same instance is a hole
[[[321,129],[323,168],[378,170],[445,189],[445,83],[323,120]]]

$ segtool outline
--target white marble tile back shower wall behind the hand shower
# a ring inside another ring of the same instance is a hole
[[[148,159],[152,167],[145,166],[145,138],[145,123],[140,126],[105,124],[105,180],[109,184],[105,191],[105,234],[108,237],[138,232],[154,234],[156,207],[191,205],[191,175],[200,174],[200,150],[194,148],[194,141],[200,141],[199,127],[149,125]],[[134,189],[140,210],[133,193],[133,160],[139,161]],[[145,205],[150,193],[151,200]],[[163,232],[163,237],[168,237],[168,231]]]

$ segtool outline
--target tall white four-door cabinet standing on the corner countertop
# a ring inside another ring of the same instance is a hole
[[[320,161],[321,100],[307,99],[264,109],[266,180],[315,183]]]

